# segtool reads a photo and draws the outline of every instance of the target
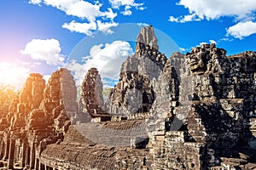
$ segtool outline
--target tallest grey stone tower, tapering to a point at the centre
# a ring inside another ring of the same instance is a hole
[[[126,116],[149,112],[155,99],[155,83],[166,60],[158,51],[154,28],[142,28],[137,37],[136,53],[123,63],[119,82],[110,93],[108,112]]]

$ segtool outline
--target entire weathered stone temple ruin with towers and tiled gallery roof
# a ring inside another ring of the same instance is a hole
[[[81,87],[67,69],[31,74],[1,120],[0,168],[256,169],[255,52],[167,59],[148,26],[108,99],[96,68]]]

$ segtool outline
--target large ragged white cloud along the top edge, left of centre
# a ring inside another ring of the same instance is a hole
[[[110,27],[117,26],[117,23],[113,22],[113,19],[117,16],[113,13],[112,8],[108,8],[105,11],[101,10],[102,3],[96,1],[96,3],[89,3],[82,0],[30,0],[29,3],[37,5],[47,5],[54,8],[58,8],[65,12],[67,15],[79,17],[80,19],[86,19],[83,23],[75,20],[70,23],[64,23],[62,28],[69,31],[83,33],[91,36],[92,31],[103,31],[104,33],[112,32]],[[99,23],[97,20],[107,20],[104,23]],[[104,26],[102,26],[104,25]],[[103,28],[102,28],[103,27]]]

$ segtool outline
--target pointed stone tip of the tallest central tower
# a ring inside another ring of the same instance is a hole
[[[157,38],[154,35],[154,27],[146,26],[143,27],[137,36],[137,46],[136,51],[144,46],[150,46],[151,48],[159,49],[157,44]]]

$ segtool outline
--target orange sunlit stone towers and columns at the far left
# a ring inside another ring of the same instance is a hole
[[[1,167],[43,168],[39,161],[42,150],[46,144],[63,139],[76,110],[76,88],[70,71],[55,71],[46,86],[43,76],[30,74],[10,106],[9,126],[1,132]]]

